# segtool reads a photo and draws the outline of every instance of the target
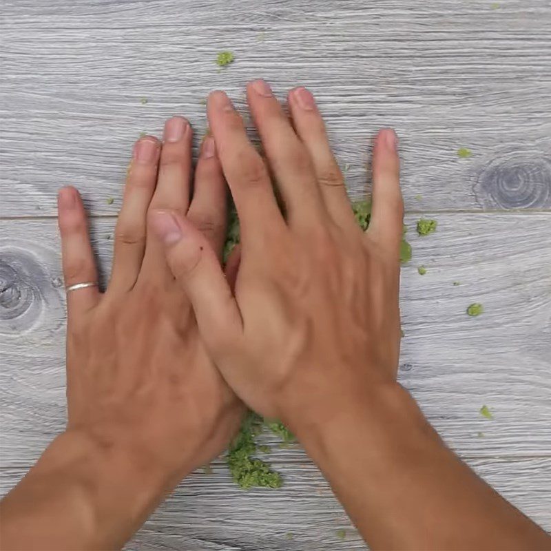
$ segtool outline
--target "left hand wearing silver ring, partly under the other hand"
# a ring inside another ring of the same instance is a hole
[[[213,138],[202,145],[190,200],[191,171],[191,127],[184,118],[167,121],[162,144],[141,138],[118,216],[107,290],[87,287],[67,295],[67,433],[154,471],[165,489],[221,453],[244,411],[207,356],[163,245],[147,231],[148,212],[175,209],[221,256],[227,194]],[[65,285],[95,282],[76,189],[59,194],[59,227]]]

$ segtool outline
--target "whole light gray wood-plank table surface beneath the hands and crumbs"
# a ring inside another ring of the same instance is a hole
[[[107,271],[133,141],[184,114],[198,142],[207,93],[244,107],[245,83],[262,77],[281,97],[313,90],[355,198],[375,131],[397,130],[413,247],[399,380],[470,466],[551,530],[550,28],[548,0],[3,0],[1,491],[65,420],[56,190],[82,191]],[[218,71],[220,50],[236,61]],[[433,236],[416,235],[422,215],[438,220]],[[364,548],[300,449],[269,459],[284,488],[239,490],[218,461],[128,549]]]

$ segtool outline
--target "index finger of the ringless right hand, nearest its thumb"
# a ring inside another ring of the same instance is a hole
[[[209,96],[208,115],[218,158],[238,211],[242,242],[246,247],[249,242],[263,247],[264,236],[285,228],[267,169],[224,92]]]

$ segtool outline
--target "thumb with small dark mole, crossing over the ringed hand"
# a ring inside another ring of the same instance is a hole
[[[242,319],[209,241],[187,218],[152,210],[149,227],[165,245],[167,264],[193,306],[199,331],[213,355],[238,341]]]

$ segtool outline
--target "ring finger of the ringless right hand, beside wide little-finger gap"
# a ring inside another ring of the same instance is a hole
[[[295,130],[310,154],[329,215],[337,225],[347,228],[354,226],[344,178],[331,151],[324,121],[313,95],[306,88],[295,88],[289,93],[289,107]]]

